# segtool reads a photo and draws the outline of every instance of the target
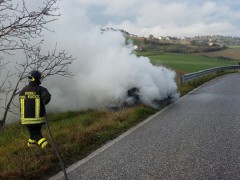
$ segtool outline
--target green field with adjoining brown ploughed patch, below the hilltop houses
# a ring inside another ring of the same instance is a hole
[[[154,65],[163,65],[179,72],[188,73],[218,66],[237,65],[240,59],[240,48],[190,54],[148,50],[139,52],[138,56],[149,57]]]

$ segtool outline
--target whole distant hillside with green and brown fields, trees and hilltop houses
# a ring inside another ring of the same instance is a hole
[[[171,38],[168,41],[154,37],[132,38],[134,45],[140,47],[136,52],[138,56],[149,57],[152,64],[166,66],[180,74],[212,67],[238,65],[240,61],[238,40],[222,36],[185,40]]]

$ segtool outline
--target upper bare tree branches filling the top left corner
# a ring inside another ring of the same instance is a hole
[[[38,11],[30,11],[24,0],[0,0],[0,51],[9,53],[23,48],[20,41],[42,37],[46,25],[60,16],[56,14],[56,2],[46,0]]]

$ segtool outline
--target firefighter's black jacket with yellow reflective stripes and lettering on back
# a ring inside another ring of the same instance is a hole
[[[46,88],[34,83],[25,86],[19,94],[21,123],[45,123],[45,105],[50,99],[51,94]]]

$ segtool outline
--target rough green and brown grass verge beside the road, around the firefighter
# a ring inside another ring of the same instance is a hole
[[[136,106],[119,111],[51,114],[48,119],[61,157],[70,165],[155,112]],[[46,128],[43,135],[48,137]],[[27,140],[28,132],[19,123],[10,124],[1,132],[0,179],[46,179],[61,170],[52,148],[29,149]]]

